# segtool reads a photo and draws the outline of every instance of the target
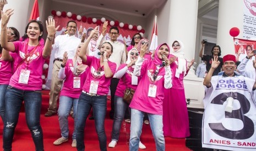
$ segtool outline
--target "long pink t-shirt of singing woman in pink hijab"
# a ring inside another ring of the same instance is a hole
[[[129,107],[146,113],[162,115],[165,68],[162,67],[159,69],[159,74],[157,74],[154,82],[153,75],[155,69],[156,66],[151,60],[143,61],[140,69],[141,79]],[[157,86],[156,97],[148,96],[150,84]]]

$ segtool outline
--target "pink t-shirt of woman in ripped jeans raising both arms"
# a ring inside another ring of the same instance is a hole
[[[43,63],[45,62],[45,58],[43,58],[43,48],[44,45],[39,45],[31,57],[29,56],[26,61],[24,61],[21,65],[20,62],[25,59],[25,53],[30,54],[30,52],[35,48],[28,45],[28,51],[26,51],[26,42],[13,42],[15,47],[15,53],[17,53],[17,58],[15,60],[15,65],[18,67],[14,72],[12,78],[10,78],[9,85],[13,86],[14,88],[21,89],[21,90],[42,90],[42,68]],[[19,66],[20,65],[20,66]],[[21,69],[25,69],[28,66],[28,70],[30,71],[29,81],[28,84],[21,84],[19,83],[19,77],[21,73]]]

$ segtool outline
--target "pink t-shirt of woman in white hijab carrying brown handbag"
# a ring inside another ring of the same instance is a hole
[[[117,71],[120,69],[126,67],[126,63],[123,63],[122,65],[119,66]],[[132,67],[129,67],[128,70],[126,71],[126,74],[123,75],[123,77],[119,80],[117,89],[116,89],[116,96],[123,97],[124,95],[124,90],[126,88],[132,88],[133,90],[137,89],[138,85],[133,85],[132,84],[132,75],[133,75],[133,69]],[[138,77],[138,83],[139,83],[140,77]]]

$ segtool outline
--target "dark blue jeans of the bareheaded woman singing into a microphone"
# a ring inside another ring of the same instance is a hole
[[[107,111],[107,96],[90,96],[81,92],[77,107],[77,150],[85,149],[84,127],[90,109],[94,113],[95,127],[100,142],[100,150],[107,150],[107,137],[104,127],[104,120]]]

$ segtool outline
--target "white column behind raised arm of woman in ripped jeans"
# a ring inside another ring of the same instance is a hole
[[[8,0],[8,4],[4,5],[3,11],[6,9],[14,9],[14,14],[10,16],[10,20],[8,22],[9,27],[15,27],[20,32],[20,36],[23,36],[25,33],[26,24],[28,24],[28,13],[30,0],[19,0],[19,1],[10,1]]]

